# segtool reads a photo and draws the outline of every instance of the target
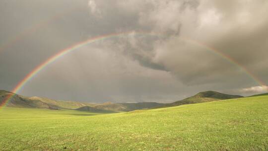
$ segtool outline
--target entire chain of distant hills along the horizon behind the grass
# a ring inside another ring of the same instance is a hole
[[[26,97],[5,90],[0,90],[0,103],[8,95],[14,95],[11,100],[7,103],[7,107],[21,107],[21,108],[47,108],[47,109],[75,109],[81,111],[90,112],[123,112],[133,111],[139,109],[151,109],[151,108],[162,108],[178,106],[183,104],[193,104],[201,102],[209,102],[215,100],[224,100],[232,98],[240,98],[240,95],[230,95],[219,93],[215,91],[200,92],[194,96],[185,98],[180,101],[173,103],[156,103],[156,102],[140,102],[140,103],[112,103],[106,102],[102,104],[95,103],[83,103],[77,101],[62,101],[53,100],[42,97]],[[264,95],[264,94],[260,94]]]

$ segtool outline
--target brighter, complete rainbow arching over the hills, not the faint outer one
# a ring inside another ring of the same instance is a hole
[[[58,60],[59,58],[67,55],[70,52],[73,52],[75,50],[78,50],[79,48],[88,45],[90,43],[99,41],[99,40],[105,40],[108,38],[112,38],[112,37],[117,37],[117,36],[121,36],[121,35],[129,35],[129,34],[141,34],[141,35],[152,35],[152,36],[159,36],[157,34],[154,33],[146,33],[146,32],[136,32],[136,31],[129,31],[129,32],[121,32],[121,33],[112,33],[112,34],[106,34],[106,35],[101,35],[101,36],[97,36],[97,37],[93,37],[90,38],[88,40],[79,42],[75,45],[72,45],[60,52],[58,52],[57,54],[51,56],[49,59],[47,59],[45,62],[43,62],[42,64],[38,65],[35,69],[33,69],[29,74],[27,74],[19,83],[17,83],[17,85],[14,87],[14,89],[11,91],[12,93],[10,95],[7,95],[2,103],[0,104],[0,107],[5,106],[8,101],[20,90],[23,88],[23,86],[32,79],[32,77],[34,77],[35,75],[37,75],[40,71],[42,71],[44,68],[46,68],[47,66],[49,66],[50,64],[54,63],[56,60]],[[236,62],[234,59],[232,59],[230,56],[227,56],[223,53],[221,53],[220,51],[218,51],[217,49],[210,47],[208,45],[205,45],[201,42],[192,40],[192,39],[188,39],[188,38],[181,38],[182,40],[201,46],[202,48],[205,48],[219,56],[221,56],[222,58],[224,58],[225,60],[231,62],[232,64],[238,66],[239,68],[241,68],[247,75],[249,75],[249,77],[251,77],[252,79],[254,79],[254,81],[256,81],[259,85],[265,85],[264,82],[262,82],[260,79],[258,79],[254,74],[252,74],[249,70],[247,70],[245,67],[243,67],[241,64],[239,64],[238,62]]]

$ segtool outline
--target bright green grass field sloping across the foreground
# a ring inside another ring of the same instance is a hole
[[[268,96],[100,114],[0,109],[0,151],[268,150]]]

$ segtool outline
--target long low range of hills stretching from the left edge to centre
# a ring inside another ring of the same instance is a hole
[[[0,90],[0,103],[8,95],[13,95],[14,93],[5,90]],[[7,107],[19,107],[19,108],[47,108],[47,109],[75,109],[81,111],[90,112],[122,112],[122,111],[132,111],[136,109],[147,109],[152,107],[157,107],[162,105],[162,103],[156,102],[146,102],[146,103],[112,103],[106,102],[102,104],[96,103],[84,103],[77,101],[62,101],[53,100],[49,98],[42,97],[26,97],[18,94],[8,101]]]

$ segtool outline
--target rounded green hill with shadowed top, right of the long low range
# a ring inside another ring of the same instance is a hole
[[[183,105],[183,104],[194,104],[194,103],[210,102],[210,101],[216,101],[216,100],[225,100],[225,99],[241,98],[241,97],[244,97],[244,96],[224,94],[224,93],[220,93],[216,91],[204,91],[204,92],[199,92],[194,96],[185,98],[180,101],[167,103],[161,107],[171,107],[171,106],[178,106],[178,105]]]

